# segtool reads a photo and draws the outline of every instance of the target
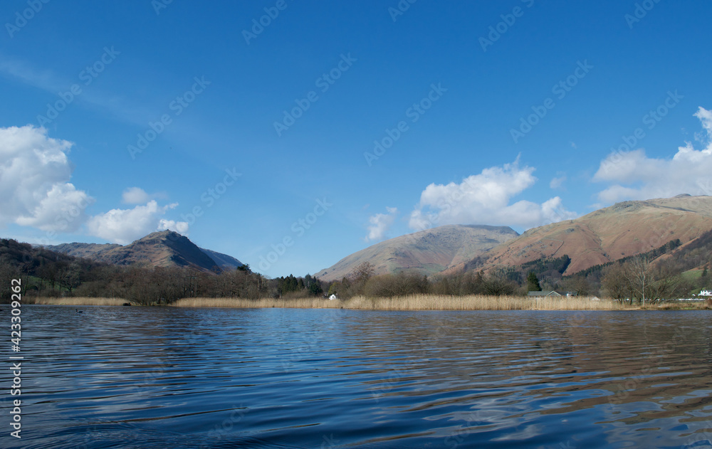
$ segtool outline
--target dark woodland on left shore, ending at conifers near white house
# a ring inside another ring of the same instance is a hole
[[[11,279],[22,280],[26,296],[116,297],[139,304],[169,304],[183,297],[323,295],[321,282],[310,275],[269,279],[248,265],[212,272],[189,266],[110,265],[0,239],[2,302],[10,300]]]

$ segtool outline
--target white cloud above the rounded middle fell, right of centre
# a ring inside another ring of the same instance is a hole
[[[409,226],[416,231],[445,224],[488,224],[531,228],[575,218],[558,196],[543,204],[518,201],[513,196],[535,184],[533,167],[519,167],[518,159],[503,167],[484,169],[460,184],[430,184],[411,213]]]

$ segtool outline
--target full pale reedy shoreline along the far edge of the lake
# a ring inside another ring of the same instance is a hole
[[[290,298],[246,300],[244,298],[183,298],[169,305],[141,305],[122,298],[102,297],[37,297],[26,304],[70,306],[143,306],[143,307],[224,307],[234,309],[345,309],[345,310],[711,310],[704,302],[664,302],[662,304],[623,305],[613,300],[592,297],[521,296],[446,296],[410,295],[402,297],[352,297],[348,300],[323,298]]]

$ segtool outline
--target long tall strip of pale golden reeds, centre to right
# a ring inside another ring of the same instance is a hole
[[[630,310],[609,300],[592,301],[589,297],[532,299],[520,296],[445,296],[411,295],[403,297],[363,297],[348,300],[299,298],[288,300],[243,300],[240,298],[186,298],[174,307],[286,307],[296,309],[352,310]]]

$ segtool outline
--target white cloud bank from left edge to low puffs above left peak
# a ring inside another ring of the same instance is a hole
[[[46,129],[32,125],[0,128],[0,226],[16,223],[72,233],[86,224],[91,235],[122,244],[164,229],[187,234],[188,223],[162,218],[177,204],[159,206],[138,187],[122,195],[125,203],[137,204],[134,208],[89,217],[85,209],[94,199],[68,182],[73,165],[67,154],[72,145],[50,139]]]

